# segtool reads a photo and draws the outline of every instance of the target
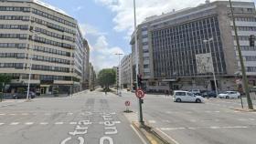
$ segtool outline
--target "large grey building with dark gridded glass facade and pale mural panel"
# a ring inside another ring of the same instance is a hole
[[[232,2],[247,76],[256,84],[256,47],[249,36],[256,35],[255,5]],[[228,1],[155,15],[138,26],[139,71],[147,90],[215,89],[212,63],[220,90],[236,89],[240,59]],[[204,40],[213,38],[204,43]],[[131,40],[134,54],[134,34]],[[209,50],[211,48],[211,50]],[[210,53],[211,52],[211,53]],[[212,57],[212,63],[208,59]],[[134,71],[133,63],[133,71]],[[209,66],[210,65],[210,66]]]

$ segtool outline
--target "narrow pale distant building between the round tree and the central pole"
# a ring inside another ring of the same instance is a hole
[[[132,54],[124,56],[121,60],[121,88],[132,88],[133,86],[133,68]]]

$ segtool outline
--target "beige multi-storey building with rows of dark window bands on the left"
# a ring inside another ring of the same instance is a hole
[[[27,87],[30,57],[32,89],[80,90],[84,51],[78,22],[62,10],[37,0],[0,1],[0,73],[13,78],[10,91]]]

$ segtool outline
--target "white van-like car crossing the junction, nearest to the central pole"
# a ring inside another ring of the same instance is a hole
[[[196,96],[191,92],[188,91],[182,91],[182,90],[176,90],[174,91],[174,101],[175,102],[197,102],[201,103],[204,102],[204,98],[201,96]]]

